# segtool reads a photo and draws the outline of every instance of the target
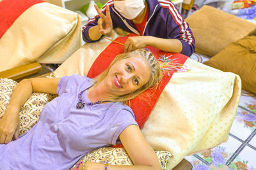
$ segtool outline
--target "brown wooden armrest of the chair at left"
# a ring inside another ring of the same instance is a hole
[[[19,78],[29,76],[40,72],[42,66],[38,62],[33,62],[31,64],[26,64],[24,66],[15,67],[13,69],[8,69],[6,71],[0,72],[0,78],[10,78],[12,80],[18,80]]]

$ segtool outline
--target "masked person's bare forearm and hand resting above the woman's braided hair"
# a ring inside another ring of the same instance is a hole
[[[124,52],[131,52],[150,45],[164,52],[181,53],[182,43],[179,39],[165,39],[154,36],[132,36],[124,43]]]

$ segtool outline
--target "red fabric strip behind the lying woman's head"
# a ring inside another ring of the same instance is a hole
[[[129,36],[136,36],[135,34],[129,34]],[[115,41],[120,43],[125,43],[128,36],[116,38]],[[152,46],[147,46],[148,50],[154,54],[154,56],[158,59],[161,55],[166,55],[170,57],[169,59],[176,59],[179,64],[184,64],[188,57],[186,55],[182,55],[180,53],[168,53],[158,50]],[[90,71],[88,72],[87,76],[93,78],[98,74],[102,73],[102,71],[106,70],[112,60],[116,57],[116,55],[124,53],[124,46],[119,45],[118,43],[112,42],[109,46],[107,46],[102,53],[100,53],[99,57],[93,62]],[[163,80],[159,83],[157,89],[148,89],[145,90],[142,94],[135,97],[130,101],[130,107],[135,115],[135,120],[138,123],[140,129],[145,124],[150,112],[154,108],[158,97],[160,96],[161,92],[163,91],[166,84],[172,78],[172,74],[175,71],[169,71],[170,75],[168,76],[166,73],[163,76]],[[150,95],[143,95],[143,94],[150,94]]]

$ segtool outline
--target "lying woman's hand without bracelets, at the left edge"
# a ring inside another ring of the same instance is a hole
[[[0,120],[0,144],[18,139],[19,127],[19,110],[7,107]]]

